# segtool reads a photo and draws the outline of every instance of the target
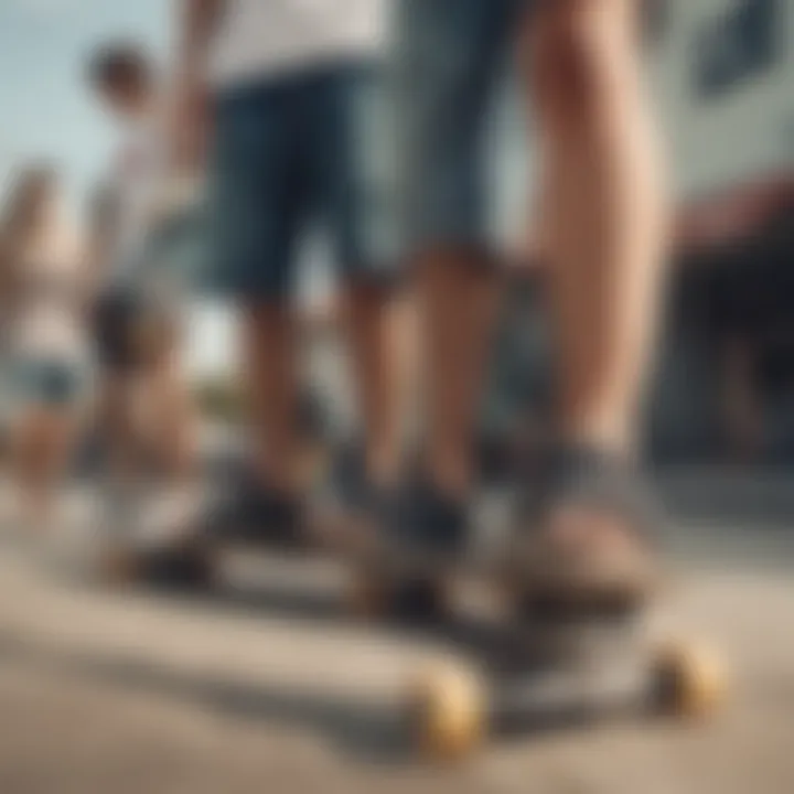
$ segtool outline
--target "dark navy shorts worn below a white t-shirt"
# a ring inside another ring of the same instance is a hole
[[[351,62],[216,96],[207,216],[216,288],[281,299],[314,224],[342,277],[391,275],[373,128],[379,84],[377,66]]]

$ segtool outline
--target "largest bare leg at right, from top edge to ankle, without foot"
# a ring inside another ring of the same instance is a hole
[[[560,0],[533,21],[561,432],[627,454],[666,236],[639,7],[637,0]]]

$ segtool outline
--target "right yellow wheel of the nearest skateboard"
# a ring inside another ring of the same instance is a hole
[[[655,685],[663,712],[674,717],[706,717],[727,696],[728,672],[713,650],[675,643],[659,651]]]

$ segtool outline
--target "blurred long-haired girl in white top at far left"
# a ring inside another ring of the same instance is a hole
[[[4,341],[14,391],[12,473],[23,516],[52,515],[87,377],[84,335],[87,271],[57,178],[24,171],[0,223]]]

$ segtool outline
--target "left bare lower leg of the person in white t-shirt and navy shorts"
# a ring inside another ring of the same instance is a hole
[[[244,367],[256,474],[286,494],[299,489],[296,329],[287,305],[260,304],[244,315]]]

